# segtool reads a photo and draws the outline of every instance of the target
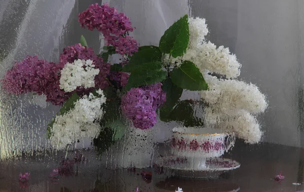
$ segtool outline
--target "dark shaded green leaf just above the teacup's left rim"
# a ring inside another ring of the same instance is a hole
[[[169,119],[183,124],[185,127],[203,127],[204,123],[201,119],[195,117],[193,104],[191,100],[183,100],[178,102],[170,113]]]

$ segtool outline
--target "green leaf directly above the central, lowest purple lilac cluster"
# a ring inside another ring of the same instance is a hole
[[[160,62],[143,63],[132,69],[125,89],[150,85],[166,79],[167,72],[162,71]]]

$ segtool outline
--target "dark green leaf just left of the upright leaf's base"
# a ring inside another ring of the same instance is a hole
[[[138,65],[143,63],[155,62],[162,60],[162,53],[158,47],[149,46],[149,48],[144,48],[141,51],[135,53],[128,62],[127,65],[124,66],[124,72],[131,72],[133,68],[136,68]]]

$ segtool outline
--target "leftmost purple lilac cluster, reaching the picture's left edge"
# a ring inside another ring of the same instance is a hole
[[[40,60],[37,56],[27,56],[6,72],[2,85],[4,90],[11,94],[37,92],[41,95],[56,78],[58,70],[55,63]]]

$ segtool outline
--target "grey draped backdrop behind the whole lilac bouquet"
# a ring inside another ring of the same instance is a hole
[[[63,47],[80,35],[99,52],[101,35],[82,29],[78,14],[101,1],[0,0],[0,78],[14,61],[39,55],[58,62]],[[270,107],[260,117],[264,142],[302,146],[304,2],[283,0],[107,0],[131,18],[133,36],[158,45],[164,31],[184,14],[206,18],[208,40],[229,47],[242,63],[241,78],[257,84]],[[188,93],[183,97],[191,96]],[[197,96],[197,94],[195,94]],[[27,94],[0,93],[0,156],[49,147],[48,122],[58,107],[32,104]],[[156,141],[170,138],[174,124],[159,123]]]

